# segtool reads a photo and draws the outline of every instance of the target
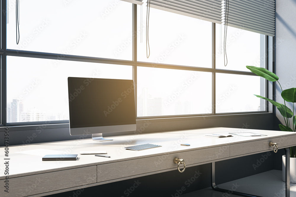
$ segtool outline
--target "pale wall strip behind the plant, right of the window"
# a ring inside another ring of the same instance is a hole
[[[276,36],[275,36],[275,66],[274,72],[279,77],[283,89],[296,87],[296,1],[276,1]],[[274,98],[283,103],[281,89],[276,83]],[[292,105],[287,105],[292,110]],[[294,107],[296,111],[296,107]],[[276,117],[284,123],[281,114],[276,110]],[[274,129],[278,129],[275,125]]]

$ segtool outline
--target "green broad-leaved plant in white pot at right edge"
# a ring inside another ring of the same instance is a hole
[[[263,78],[267,79],[268,81],[271,82],[278,82],[279,83],[279,77],[276,76],[276,74],[268,71],[265,68],[259,68],[256,66],[246,66],[247,69],[249,69],[250,71],[252,71],[252,73],[255,73],[258,76],[262,76]],[[281,87],[281,84],[279,83],[279,86]],[[284,104],[275,102],[274,100],[268,99],[266,97],[262,97],[259,95],[255,95],[256,97],[265,99],[269,102],[271,102],[271,104],[273,104],[274,106],[276,106],[276,108],[279,110],[279,112],[281,113],[281,115],[284,118],[285,121],[285,125],[279,124],[279,128],[281,129],[281,131],[291,131],[291,132],[295,132],[296,130],[296,115],[294,115],[294,103],[296,102],[296,88],[290,88],[290,89],[285,89],[283,90],[281,88],[281,97],[284,99]],[[293,103],[293,111],[291,109],[289,109],[286,106],[286,101],[287,102],[292,102]],[[290,119],[291,118],[291,119]],[[296,183],[296,146],[292,146],[290,147],[290,183]],[[286,177],[286,159],[285,159],[285,155],[282,156],[282,163],[283,163],[283,181],[285,181],[285,177]]]

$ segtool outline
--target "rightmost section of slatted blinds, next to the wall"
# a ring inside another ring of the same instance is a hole
[[[227,7],[226,1],[222,3],[222,20],[228,26],[274,36],[274,0],[227,0]]]

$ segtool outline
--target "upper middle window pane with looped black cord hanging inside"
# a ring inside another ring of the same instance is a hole
[[[138,19],[140,19],[138,20],[138,30],[140,31],[137,36],[138,61],[212,67],[211,22],[150,8],[148,26],[150,56],[147,58],[147,13],[140,11],[141,9],[145,10],[146,7],[142,5],[142,8],[141,6],[138,8]]]

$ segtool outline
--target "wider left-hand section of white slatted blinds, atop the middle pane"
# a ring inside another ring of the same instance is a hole
[[[150,0],[150,7],[219,24],[222,23],[221,0]]]

